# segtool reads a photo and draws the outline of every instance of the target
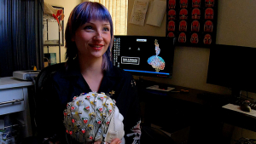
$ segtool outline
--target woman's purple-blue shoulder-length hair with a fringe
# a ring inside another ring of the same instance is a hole
[[[103,55],[102,60],[102,69],[108,71],[109,63],[111,62],[111,48],[113,46],[113,21],[111,15],[108,12],[108,9],[104,7],[101,3],[96,2],[84,2],[76,6],[71,14],[69,15],[66,31],[65,31],[65,40],[66,40],[66,60],[67,63],[76,58],[78,54],[78,48],[76,43],[72,41],[72,37],[79,28],[79,26],[84,25],[90,20],[107,20],[110,24],[110,34],[111,41],[109,43],[108,49]]]

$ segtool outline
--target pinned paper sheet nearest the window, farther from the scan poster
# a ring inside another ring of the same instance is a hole
[[[147,10],[148,0],[134,1],[130,23],[139,26],[144,26]]]

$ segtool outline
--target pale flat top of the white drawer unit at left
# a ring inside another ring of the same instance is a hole
[[[0,78],[0,89],[9,89],[15,87],[25,87],[33,85],[32,81],[20,80],[13,77]]]

